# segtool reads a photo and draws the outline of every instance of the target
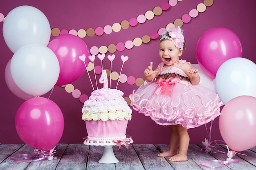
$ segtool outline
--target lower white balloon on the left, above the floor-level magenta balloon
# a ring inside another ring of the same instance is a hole
[[[11,76],[25,93],[41,96],[54,87],[60,65],[54,52],[39,44],[18,49],[11,59]]]

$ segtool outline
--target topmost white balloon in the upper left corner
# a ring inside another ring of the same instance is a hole
[[[47,46],[51,27],[45,14],[31,6],[20,6],[11,10],[3,23],[3,36],[9,49],[15,53],[28,44]]]

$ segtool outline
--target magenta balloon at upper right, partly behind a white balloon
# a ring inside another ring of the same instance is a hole
[[[242,57],[242,45],[238,36],[227,28],[209,29],[198,40],[198,64],[211,78],[215,78],[222,63],[234,57]]]

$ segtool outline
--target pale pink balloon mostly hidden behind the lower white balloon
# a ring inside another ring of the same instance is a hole
[[[11,76],[11,59],[8,61],[5,71],[4,71],[4,78],[5,82],[7,84],[7,87],[10,89],[10,91],[17,97],[22,98],[24,100],[28,100],[29,98],[32,98],[33,96],[30,94],[27,94],[23,92],[13,81],[13,78]]]

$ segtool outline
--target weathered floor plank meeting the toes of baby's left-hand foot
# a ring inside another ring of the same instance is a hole
[[[166,159],[163,157],[157,157],[157,154],[160,152],[157,150],[155,145],[134,144],[133,147],[146,170],[174,170]]]

